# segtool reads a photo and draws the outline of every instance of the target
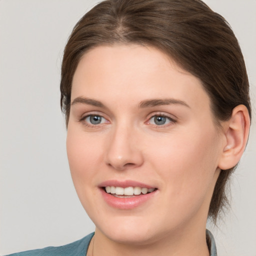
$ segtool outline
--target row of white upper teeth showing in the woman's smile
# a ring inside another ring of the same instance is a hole
[[[151,193],[155,190],[155,188],[147,188],[147,187],[139,187],[139,186],[128,186],[128,187],[120,187],[120,186],[106,186],[105,190],[107,193],[116,194],[116,195],[139,195]]]

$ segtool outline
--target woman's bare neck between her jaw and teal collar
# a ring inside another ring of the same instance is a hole
[[[158,240],[143,243],[116,242],[105,236],[96,228],[88,249],[88,256],[209,256],[203,231],[180,231],[173,234],[162,234]]]

